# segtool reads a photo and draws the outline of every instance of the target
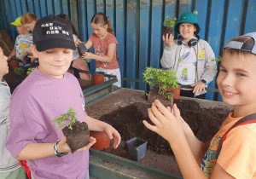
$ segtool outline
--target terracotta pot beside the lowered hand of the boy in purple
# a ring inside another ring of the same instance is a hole
[[[94,149],[103,150],[109,147],[110,139],[105,132],[90,130],[90,136],[96,138],[96,143],[92,146]]]

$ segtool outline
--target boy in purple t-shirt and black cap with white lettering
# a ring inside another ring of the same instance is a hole
[[[27,161],[32,178],[89,178],[88,149],[96,140],[90,137],[87,146],[69,153],[66,136],[52,124],[53,118],[67,113],[70,107],[78,121],[86,122],[90,130],[105,131],[114,140],[113,147],[119,146],[117,130],[85,113],[79,82],[67,72],[74,49],[72,28],[67,21],[53,15],[37,21],[32,54],[38,58],[39,66],[14,91],[6,142],[16,159]]]

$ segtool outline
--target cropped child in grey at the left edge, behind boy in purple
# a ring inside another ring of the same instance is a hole
[[[0,48],[0,79],[9,72],[7,57],[3,55],[3,49]],[[9,85],[0,82],[0,178],[26,178],[25,170],[19,165],[19,161],[14,159],[9,151],[4,147],[4,143],[9,136],[9,102],[10,102]]]

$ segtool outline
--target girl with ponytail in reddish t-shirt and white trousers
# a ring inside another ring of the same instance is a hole
[[[97,13],[91,21],[90,26],[93,29],[89,40],[84,43],[86,49],[94,47],[95,54],[85,52],[82,58],[85,60],[96,60],[96,72],[105,72],[106,74],[115,75],[118,82],[114,85],[121,87],[121,75],[117,57],[117,39],[114,36],[111,21],[106,14]],[[76,44],[81,43],[79,40]],[[108,78],[105,78],[105,81]]]

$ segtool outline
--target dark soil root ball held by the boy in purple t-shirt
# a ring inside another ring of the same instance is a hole
[[[67,145],[72,153],[90,143],[90,130],[85,122],[76,121],[73,124],[73,130],[66,126],[62,131],[64,136],[67,136]]]

